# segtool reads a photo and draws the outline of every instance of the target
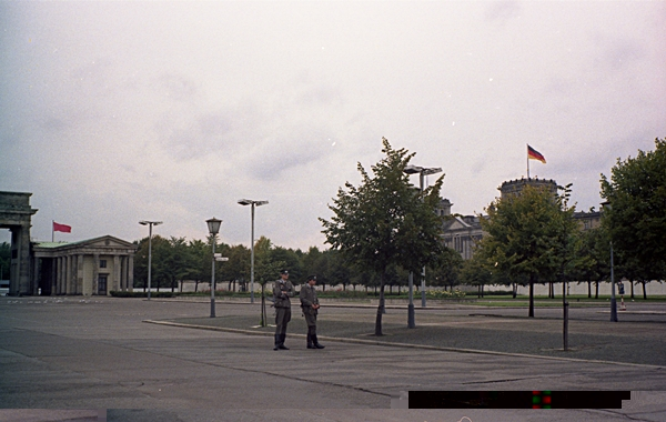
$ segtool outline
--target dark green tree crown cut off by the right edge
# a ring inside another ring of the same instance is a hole
[[[606,207],[602,224],[608,230],[619,265],[640,269],[643,280],[666,275],[666,140],[654,151],[617,159],[610,180],[602,174]]]

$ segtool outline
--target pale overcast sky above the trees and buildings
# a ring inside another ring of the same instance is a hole
[[[38,240],[216,217],[249,245],[249,198],[258,238],[322,248],[386,137],[444,169],[454,212],[525,177],[526,143],[532,177],[598,208],[599,173],[666,135],[664,22],[663,1],[2,1],[0,190],[33,193]]]

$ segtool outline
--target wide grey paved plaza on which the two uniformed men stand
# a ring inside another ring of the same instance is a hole
[[[291,350],[275,352],[259,304],[219,300],[211,319],[205,300],[1,298],[0,421],[29,421],[22,409],[130,422],[666,421],[665,311],[632,305],[612,323],[603,308],[572,308],[565,352],[561,309],[527,319],[526,309],[433,303],[407,329],[394,305],[376,338],[375,308],[325,303],[326,349],[307,350],[293,307]],[[634,395],[615,410],[406,409],[417,390]]]

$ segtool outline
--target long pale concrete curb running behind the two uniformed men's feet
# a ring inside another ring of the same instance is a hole
[[[238,334],[273,336],[273,333],[256,332],[256,331],[242,330],[242,329],[230,329],[230,328],[223,328],[223,326],[184,324],[184,323],[180,323],[180,322],[153,321],[153,320],[143,320],[143,322],[147,322],[150,324],[171,325],[171,326],[189,328],[189,329],[196,329],[196,330],[224,331],[224,332],[231,332],[231,333],[238,333]],[[289,336],[290,338],[302,338],[302,339],[306,338],[304,334],[291,334],[291,333],[289,334]],[[433,350],[433,351],[441,351],[441,352],[488,354],[488,355],[498,355],[498,356],[545,359],[545,360],[562,361],[562,362],[598,363],[598,364],[632,366],[632,368],[649,368],[649,369],[655,369],[655,370],[666,369],[666,366],[650,365],[650,364],[644,364],[644,363],[614,362],[614,361],[587,360],[587,359],[576,359],[576,358],[544,356],[544,355],[539,355],[539,354],[495,352],[492,350],[441,348],[441,346],[427,345],[427,344],[394,343],[394,342],[389,342],[389,341],[334,338],[334,336],[325,336],[325,335],[317,335],[317,336],[324,341],[336,341],[340,343],[384,345],[384,346],[391,346],[391,348],[406,348],[406,349],[424,349],[424,350]]]

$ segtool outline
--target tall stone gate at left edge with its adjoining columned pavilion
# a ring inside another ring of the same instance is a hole
[[[78,242],[30,240],[32,193],[0,192],[0,229],[11,232],[10,295],[108,295],[132,291],[131,242],[103,235]]]

